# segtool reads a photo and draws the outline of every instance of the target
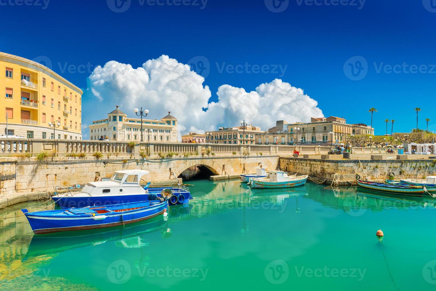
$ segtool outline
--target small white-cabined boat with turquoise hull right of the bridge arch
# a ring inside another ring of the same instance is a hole
[[[269,171],[267,179],[250,179],[251,188],[290,188],[306,184],[308,176],[289,177],[283,171]]]

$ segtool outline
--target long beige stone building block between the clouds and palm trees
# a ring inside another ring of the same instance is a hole
[[[283,130],[281,125],[283,124]],[[285,130],[284,127],[287,126]],[[276,132],[274,132],[276,130]],[[309,123],[277,121],[268,133],[256,134],[257,144],[346,144],[351,134],[374,134],[366,124],[348,124],[341,117],[312,117]]]

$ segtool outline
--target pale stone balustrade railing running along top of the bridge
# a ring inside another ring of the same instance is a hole
[[[120,155],[139,155],[141,152],[148,156],[167,154],[189,155],[232,155],[232,154],[326,154],[331,147],[317,145],[262,145],[262,144],[187,144],[187,143],[132,143],[127,141],[108,140],[52,140],[52,139],[0,139],[0,155],[20,153],[57,153],[58,155],[84,153],[91,156],[96,152],[114,153]],[[397,149],[393,149],[397,153]],[[353,147],[355,154],[382,154],[386,148]]]

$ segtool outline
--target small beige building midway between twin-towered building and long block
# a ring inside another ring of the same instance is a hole
[[[206,142],[212,144],[255,144],[255,135],[265,133],[252,124],[239,127],[219,127],[218,130],[206,132]]]

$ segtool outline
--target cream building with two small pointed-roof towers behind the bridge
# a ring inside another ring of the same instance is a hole
[[[109,140],[141,140],[141,119],[127,117],[118,107],[107,118],[89,125],[90,140],[99,140],[101,136]],[[143,119],[142,127],[144,142],[177,142],[177,118],[170,112],[160,120]]]

